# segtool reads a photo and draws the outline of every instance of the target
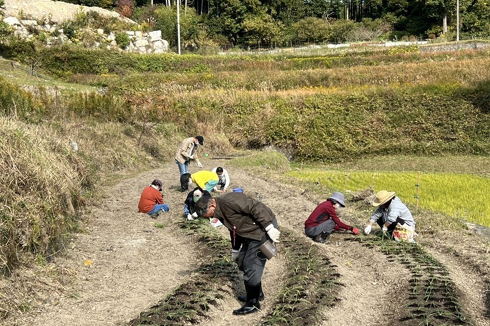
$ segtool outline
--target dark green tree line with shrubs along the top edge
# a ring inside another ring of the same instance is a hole
[[[105,8],[133,6],[130,18],[162,29],[176,40],[178,0],[65,0]],[[183,42],[188,47],[286,46],[377,39],[450,40],[456,0],[180,0]],[[463,37],[490,36],[488,0],[461,0]],[[130,3],[130,4],[129,4]],[[128,14],[126,14],[128,15]]]

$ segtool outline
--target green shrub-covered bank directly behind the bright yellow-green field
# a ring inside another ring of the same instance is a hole
[[[273,144],[293,149],[300,160],[487,154],[490,110],[479,98],[488,85],[477,90],[439,85],[286,96],[211,92],[180,96],[172,103],[173,118],[188,124],[212,108],[235,145]]]

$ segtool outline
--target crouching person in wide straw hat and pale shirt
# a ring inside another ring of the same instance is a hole
[[[381,190],[376,194],[371,204],[378,209],[371,215],[364,233],[371,233],[374,223],[377,223],[383,232],[390,234],[391,237],[398,224],[415,233],[415,220],[412,213],[395,194],[394,191],[386,190]]]

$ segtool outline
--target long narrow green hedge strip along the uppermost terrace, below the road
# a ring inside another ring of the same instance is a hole
[[[26,54],[27,53],[27,54]],[[193,54],[131,54],[108,50],[83,49],[73,46],[34,50],[32,43],[12,40],[0,44],[0,54],[7,59],[30,62],[34,58],[42,69],[59,77],[72,74],[125,74],[127,72],[206,72],[249,70],[307,70],[354,66],[380,66],[397,62],[446,61],[453,58],[486,57],[485,51],[461,53],[400,53],[388,55],[388,50],[329,53],[323,56],[257,55],[199,56]]]

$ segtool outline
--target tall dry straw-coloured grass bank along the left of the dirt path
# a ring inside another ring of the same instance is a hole
[[[1,118],[0,270],[8,272],[19,253],[44,255],[63,246],[99,178],[137,170],[156,159],[170,161],[184,137],[160,125],[138,146],[140,132],[137,124],[80,120],[31,125]]]

